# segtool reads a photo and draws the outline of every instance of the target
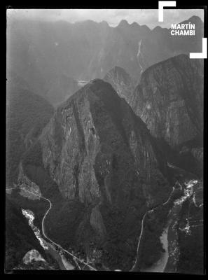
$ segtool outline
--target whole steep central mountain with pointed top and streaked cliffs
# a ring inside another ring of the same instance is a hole
[[[53,201],[48,235],[86,255],[102,251],[111,269],[131,268],[144,211],[170,191],[146,125],[99,79],[58,107],[22,166]]]

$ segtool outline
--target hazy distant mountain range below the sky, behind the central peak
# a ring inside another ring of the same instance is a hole
[[[106,22],[40,22],[8,20],[7,66],[27,80],[32,92],[57,106],[77,90],[75,80],[104,78],[116,65],[138,83],[141,72],[180,53],[202,51],[200,18],[195,36],[171,36],[169,29],[123,20]]]

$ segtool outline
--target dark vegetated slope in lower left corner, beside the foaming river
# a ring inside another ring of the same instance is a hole
[[[46,209],[46,205],[41,205],[41,202],[32,203],[23,197],[20,199],[20,197],[17,200],[15,194],[6,195],[6,271],[13,269],[58,269],[57,261],[51,257],[48,250],[43,249],[27,218],[22,215],[22,209],[33,209],[34,207],[43,211],[43,208]],[[45,261],[25,264],[23,258],[31,250],[40,253]]]

